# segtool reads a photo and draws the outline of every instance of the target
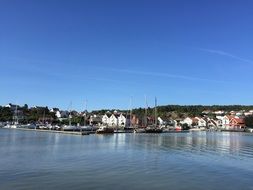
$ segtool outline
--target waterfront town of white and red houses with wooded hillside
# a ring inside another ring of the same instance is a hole
[[[160,106],[123,111],[78,112],[9,103],[0,108],[2,128],[79,131],[80,129],[97,130],[103,126],[114,130],[136,130],[154,126],[156,129],[162,129],[159,132],[185,130],[253,132],[252,106]],[[217,110],[217,108],[224,109]],[[237,110],[229,110],[231,108]]]

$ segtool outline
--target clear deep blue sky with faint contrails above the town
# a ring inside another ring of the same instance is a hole
[[[0,104],[253,104],[250,0],[0,0]]]

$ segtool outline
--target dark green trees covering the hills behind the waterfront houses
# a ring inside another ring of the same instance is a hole
[[[59,110],[58,108],[54,108],[54,110]],[[240,111],[240,110],[253,110],[253,105],[212,105],[212,106],[204,106],[204,105],[166,105],[166,106],[158,106],[157,107],[157,116],[160,117],[167,117],[167,118],[182,118],[185,116],[203,116],[203,111],[209,111],[208,115],[211,117],[213,116],[214,111],[222,110],[225,112],[230,111]],[[114,110],[109,110],[113,113]],[[128,110],[120,110],[121,112],[128,113]],[[16,113],[17,112],[17,113]],[[97,114],[103,115],[108,110],[95,110],[90,114]],[[154,117],[154,108],[147,108],[148,116]],[[143,118],[145,115],[145,108],[136,108],[133,109],[133,114],[138,116],[139,118]],[[84,118],[80,115],[72,114],[73,123],[83,123]],[[47,121],[49,123],[59,123],[57,120],[55,113],[50,112],[48,107],[36,107],[36,108],[28,108],[28,105],[25,104],[24,106],[17,106],[15,107],[1,107],[0,106],[0,121],[13,121],[15,120],[14,117],[18,117],[19,122],[21,123],[31,123],[31,122],[38,122],[38,121]],[[67,123],[67,120],[63,121]]]

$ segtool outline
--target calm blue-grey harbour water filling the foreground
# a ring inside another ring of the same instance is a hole
[[[253,136],[0,129],[0,189],[253,189]]]

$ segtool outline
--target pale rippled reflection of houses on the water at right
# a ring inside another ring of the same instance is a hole
[[[250,139],[248,139],[250,138]],[[233,159],[253,158],[253,137],[242,133],[193,132],[187,134],[118,134],[114,148],[128,147],[177,154],[222,155]]]

